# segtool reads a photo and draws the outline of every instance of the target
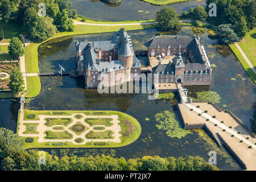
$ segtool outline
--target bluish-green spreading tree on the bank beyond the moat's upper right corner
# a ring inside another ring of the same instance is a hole
[[[220,44],[230,44],[240,41],[240,38],[234,32],[231,24],[220,24],[220,26],[218,26],[216,36]]]

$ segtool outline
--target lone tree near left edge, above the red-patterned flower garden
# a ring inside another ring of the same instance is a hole
[[[8,46],[9,55],[19,57],[24,55],[24,49],[22,48],[22,42],[19,38],[11,38],[10,44]]]

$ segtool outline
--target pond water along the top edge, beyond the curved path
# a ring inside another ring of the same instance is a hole
[[[155,6],[139,0],[122,0],[121,4],[109,5],[100,0],[71,0],[77,13],[98,20],[146,20],[154,19],[156,11],[163,6]],[[188,1],[173,7],[178,14],[188,11],[190,7],[205,6],[205,1]]]

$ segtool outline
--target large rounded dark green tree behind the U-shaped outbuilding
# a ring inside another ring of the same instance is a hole
[[[164,7],[157,11],[155,20],[162,31],[179,30],[181,27],[179,15],[172,7]]]

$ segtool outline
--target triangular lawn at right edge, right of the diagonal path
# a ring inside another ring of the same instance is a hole
[[[253,67],[256,67],[256,28],[249,31],[241,42],[238,42],[239,46],[245,52],[246,56],[250,60]]]

